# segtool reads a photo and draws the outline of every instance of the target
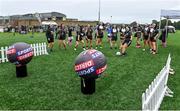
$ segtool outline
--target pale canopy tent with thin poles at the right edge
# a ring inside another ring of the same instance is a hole
[[[161,10],[160,22],[159,22],[159,34],[161,31],[161,20],[162,20],[162,18],[166,19],[166,37],[167,37],[168,21],[169,21],[169,19],[180,19],[180,10]],[[157,51],[158,51],[158,42],[156,45],[157,45]]]

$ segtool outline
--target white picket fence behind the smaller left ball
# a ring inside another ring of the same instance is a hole
[[[40,56],[40,55],[48,54],[46,43],[31,44],[31,47],[34,50],[34,56]],[[0,47],[0,63],[8,62],[7,54],[6,54],[8,48],[9,47],[7,47],[7,46],[6,47]]]

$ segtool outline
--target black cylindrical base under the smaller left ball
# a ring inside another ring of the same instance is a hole
[[[27,66],[16,66],[16,77],[26,77],[27,76]]]

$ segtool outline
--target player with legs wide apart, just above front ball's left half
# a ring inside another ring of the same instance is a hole
[[[81,42],[82,43],[82,46],[83,46],[83,50],[86,50],[85,48],[84,48],[84,40],[83,40],[83,27],[82,26],[77,26],[76,27],[76,45],[75,45],[75,47],[74,47],[74,50],[76,51],[77,50],[77,47],[78,47],[78,45],[79,45],[79,42]]]

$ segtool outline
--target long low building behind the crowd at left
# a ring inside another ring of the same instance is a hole
[[[36,14],[39,14],[40,20],[36,17]],[[54,21],[58,25],[96,25],[97,21],[79,21],[76,18],[67,18],[65,14],[59,12],[50,12],[50,13],[35,13],[35,14],[24,14],[24,15],[12,15],[12,16],[0,16],[0,26],[4,27],[34,27],[40,26],[40,21]]]

